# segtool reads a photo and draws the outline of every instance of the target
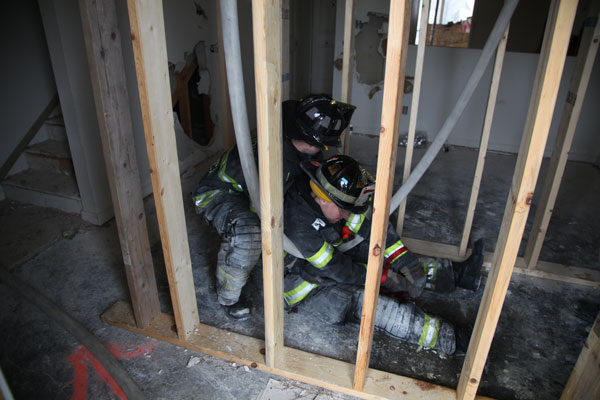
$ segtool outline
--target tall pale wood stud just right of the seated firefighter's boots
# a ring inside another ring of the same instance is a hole
[[[510,276],[523,236],[533,191],[542,163],[558,86],[563,71],[577,1],[554,1],[546,24],[526,129],[517,158],[513,183],[498,235],[469,349],[457,388],[459,399],[475,397],[485,360],[498,324]]]

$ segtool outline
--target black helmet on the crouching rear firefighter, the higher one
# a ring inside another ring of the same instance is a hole
[[[282,104],[283,131],[290,139],[321,149],[337,146],[355,109],[327,94],[311,94],[300,101],[287,100]]]

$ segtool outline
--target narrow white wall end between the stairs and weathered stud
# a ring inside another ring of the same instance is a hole
[[[81,217],[112,218],[112,203],[76,0],[40,1],[46,40],[81,197]]]

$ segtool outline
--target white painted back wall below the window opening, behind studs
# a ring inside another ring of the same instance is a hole
[[[359,0],[356,4],[356,19],[367,21],[368,11],[387,13],[388,4],[386,0]],[[344,2],[340,1],[336,14],[336,58],[341,57],[343,48],[343,12]],[[481,50],[475,49],[427,47],[417,130],[427,132],[429,140],[435,138],[444,123],[480,53]],[[414,75],[415,56],[416,47],[410,46],[406,68],[406,74],[409,76]],[[600,110],[600,91],[598,90],[600,88],[600,61],[598,58],[594,64],[592,78],[569,154],[571,160],[593,163],[600,155],[600,142],[597,139],[600,126],[600,113],[598,112]],[[537,54],[506,54],[492,125],[490,150],[512,153],[518,151],[527,117],[537,61]],[[546,155],[550,154],[556,137],[574,61],[574,57],[568,57],[565,64],[550,137],[546,146]],[[450,135],[449,144],[469,147],[479,145],[490,79],[491,66],[488,67],[471,102]],[[352,103],[358,107],[352,118],[354,132],[379,134],[383,91],[375,93],[373,98],[369,99],[368,94],[373,86],[360,83],[360,78],[356,70],[354,71]],[[381,88],[383,88],[382,84]],[[341,71],[334,68],[333,95],[339,97],[340,93]],[[405,95],[403,104],[410,107],[411,100],[412,95]],[[408,122],[408,115],[403,115],[400,124],[401,132],[408,130]]]

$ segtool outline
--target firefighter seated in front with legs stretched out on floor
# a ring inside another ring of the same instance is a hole
[[[303,259],[285,258],[287,307],[301,303],[328,323],[360,320],[371,231],[374,178],[354,159],[334,156],[306,160],[285,197],[286,235]],[[447,292],[456,286],[476,290],[483,263],[483,242],[463,263],[419,258],[388,224],[382,292],[419,296],[424,289]],[[424,313],[413,302],[380,296],[375,327],[388,335],[453,354],[453,326]]]

